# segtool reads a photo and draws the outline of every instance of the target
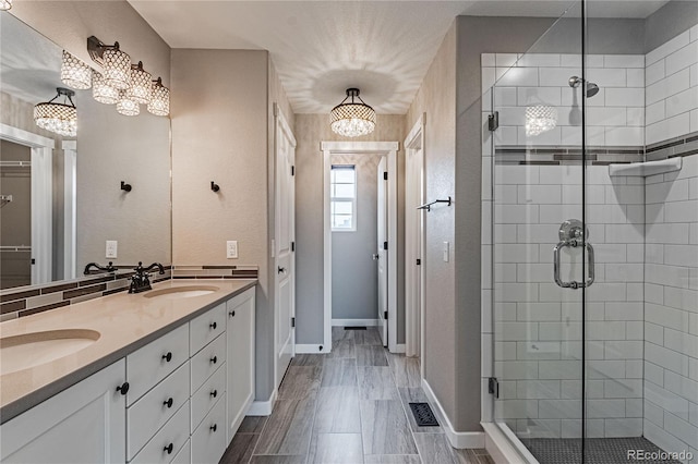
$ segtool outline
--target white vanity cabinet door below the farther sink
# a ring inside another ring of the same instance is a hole
[[[254,400],[254,291],[248,289],[226,304],[228,443]]]

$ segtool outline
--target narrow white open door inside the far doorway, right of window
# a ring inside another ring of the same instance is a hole
[[[383,345],[388,345],[388,251],[386,249],[388,242],[388,198],[386,194],[387,180],[387,162],[385,157],[378,163],[378,241],[376,243],[378,255],[378,332]]]

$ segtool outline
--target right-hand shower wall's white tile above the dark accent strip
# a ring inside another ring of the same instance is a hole
[[[698,35],[691,30],[645,57],[645,145],[698,131]]]

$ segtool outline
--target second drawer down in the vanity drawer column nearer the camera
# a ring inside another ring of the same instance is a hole
[[[129,459],[188,402],[189,375],[185,363],[127,410]]]

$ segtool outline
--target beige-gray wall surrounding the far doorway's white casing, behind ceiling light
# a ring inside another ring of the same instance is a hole
[[[323,343],[323,141],[347,141],[329,129],[327,114],[296,114],[296,342]],[[375,131],[357,142],[405,139],[405,117],[378,114]],[[405,342],[405,157],[398,169],[398,343]]]

